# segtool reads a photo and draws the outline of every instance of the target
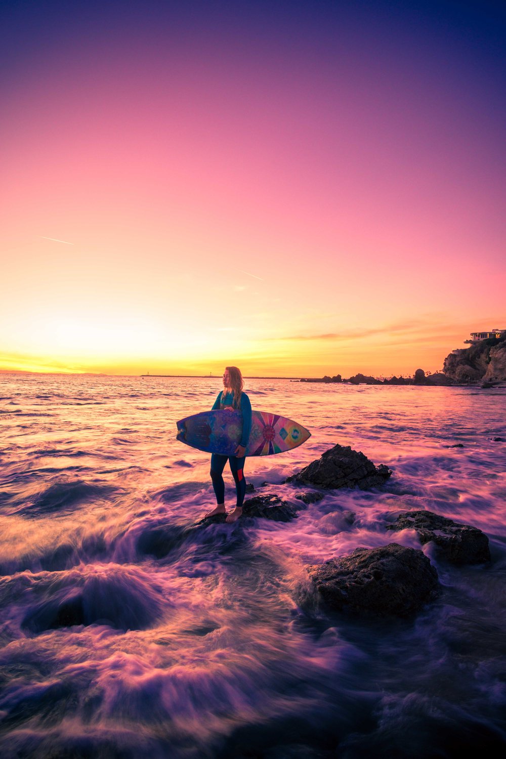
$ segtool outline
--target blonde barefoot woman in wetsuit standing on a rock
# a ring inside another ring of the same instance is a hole
[[[235,509],[228,514],[226,519],[228,522],[237,521],[243,513],[244,495],[246,493],[246,480],[244,479],[246,456],[244,454],[251,432],[251,404],[250,398],[243,392],[243,388],[244,379],[240,370],[237,367],[226,367],[223,373],[223,389],[218,392],[218,397],[212,405],[212,411],[216,411],[218,408],[225,409],[225,411],[238,409],[243,415],[243,434],[234,455],[222,456],[218,453],[211,455],[211,480],[218,505],[207,516],[225,514],[225,483],[222,474],[228,459],[237,494]]]

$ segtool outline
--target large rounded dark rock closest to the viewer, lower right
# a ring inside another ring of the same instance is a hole
[[[423,551],[389,543],[307,568],[334,609],[410,616],[435,597],[438,573]]]

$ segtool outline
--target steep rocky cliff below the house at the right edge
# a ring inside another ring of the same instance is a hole
[[[456,383],[506,380],[506,338],[480,340],[445,358],[443,371]]]

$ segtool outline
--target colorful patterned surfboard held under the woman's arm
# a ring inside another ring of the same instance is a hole
[[[187,446],[207,453],[233,456],[243,431],[240,411],[202,411],[178,421],[177,439]],[[246,448],[247,456],[269,456],[297,448],[311,433],[302,424],[269,414],[251,412],[251,433]]]

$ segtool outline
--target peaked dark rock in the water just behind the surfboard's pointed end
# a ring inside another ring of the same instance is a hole
[[[297,474],[292,474],[286,482],[303,482],[317,487],[379,487],[388,477],[391,469],[384,464],[376,467],[361,452],[350,446],[334,446],[316,461],[312,461]]]

